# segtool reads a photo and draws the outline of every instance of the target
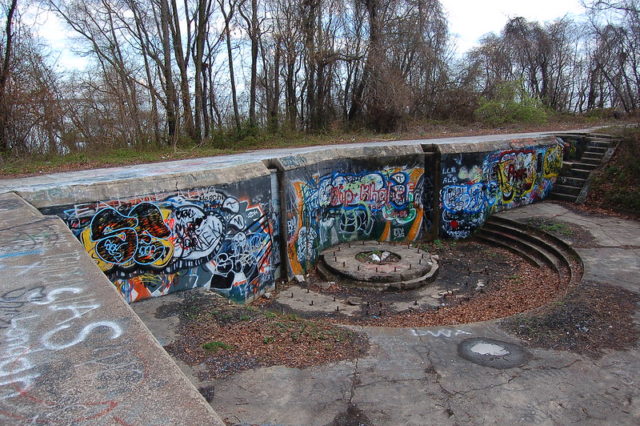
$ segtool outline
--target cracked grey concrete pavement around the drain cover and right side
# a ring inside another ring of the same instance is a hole
[[[550,202],[503,213],[561,218],[596,242],[577,247],[585,277],[640,292],[640,223],[584,216]],[[639,324],[636,313],[634,322]],[[497,321],[439,328],[354,327],[370,350],[353,361],[306,369],[258,368],[215,386],[214,409],[232,424],[619,424],[640,423],[640,350],[599,359],[526,348],[520,367],[497,369],[458,354],[465,339],[522,345]],[[193,377],[193,376],[192,376]],[[197,379],[194,379],[197,380]],[[356,407],[357,421],[345,423]]]

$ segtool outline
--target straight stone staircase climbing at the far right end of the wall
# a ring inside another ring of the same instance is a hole
[[[618,140],[600,134],[567,134],[558,137],[563,141],[573,141],[581,149],[578,159],[564,161],[562,172],[549,198],[583,203],[589,190],[591,171],[611,159]]]

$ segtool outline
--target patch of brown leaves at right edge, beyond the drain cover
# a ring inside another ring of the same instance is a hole
[[[583,282],[564,299],[509,318],[503,326],[534,347],[598,357],[604,349],[636,344],[640,330],[633,314],[638,301],[640,296],[623,288]]]

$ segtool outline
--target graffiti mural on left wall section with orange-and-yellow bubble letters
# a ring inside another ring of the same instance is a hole
[[[129,302],[195,287],[244,301],[274,281],[274,216],[261,185],[257,200],[203,188],[57,214]]]

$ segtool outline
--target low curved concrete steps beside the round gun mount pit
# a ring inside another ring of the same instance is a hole
[[[582,261],[566,242],[535,227],[491,216],[475,236],[524,257],[536,267],[549,267],[571,286],[582,279]]]

